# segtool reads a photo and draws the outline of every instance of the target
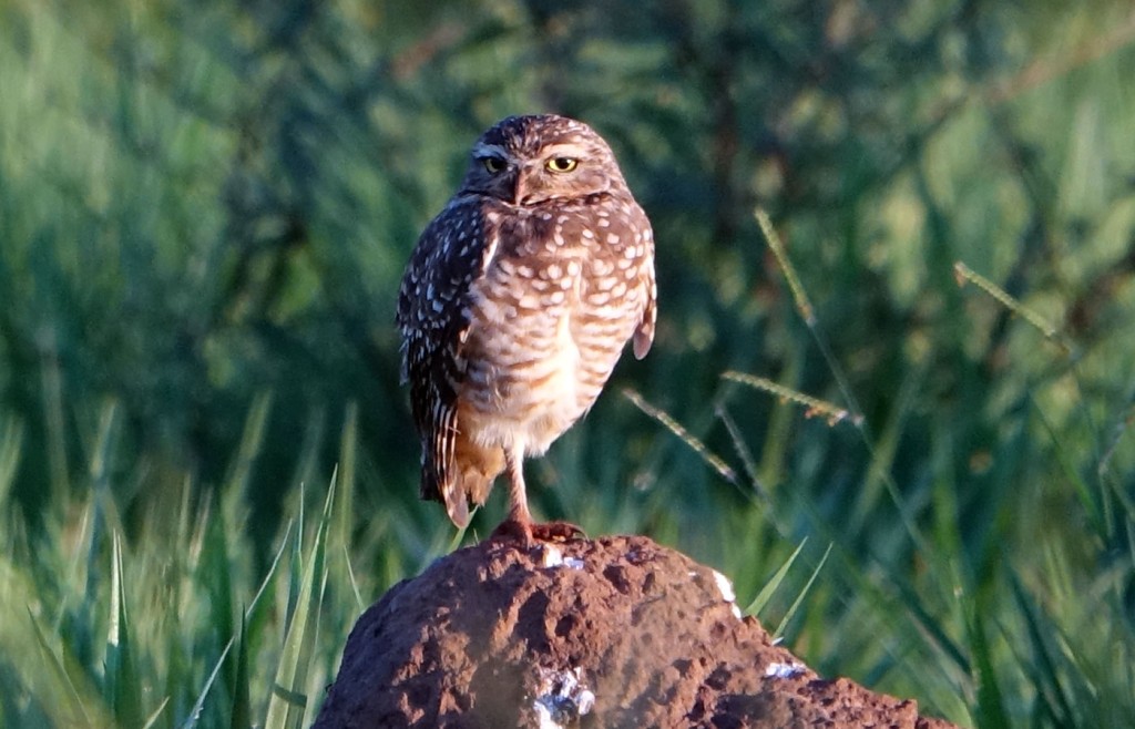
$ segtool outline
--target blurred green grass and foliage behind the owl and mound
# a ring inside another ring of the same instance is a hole
[[[712,563],[931,713],[1135,726],[1104,0],[0,0],[0,726],[312,719],[359,611],[456,544],[394,302],[471,142],[536,111],[612,143],[661,304],[528,465],[538,514]]]

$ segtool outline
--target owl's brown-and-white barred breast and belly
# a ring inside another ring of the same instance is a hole
[[[498,243],[472,288],[457,422],[479,446],[507,449],[519,439],[526,456],[547,451],[594,405],[641,321],[649,294],[637,263],[646,248],[641,229],[622,245],[598,245],[583,235],[589,228],[569,224],[580,214],[505,227],[498,235],[511,239]],[[491,224],[497,214],[486,218]],[[631,221],[617,222],[632,230]]]

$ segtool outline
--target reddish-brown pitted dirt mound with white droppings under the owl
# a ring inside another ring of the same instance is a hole
[[[363,613],[316,727],[952,726],[819,678],[731,593],[645,537],[463,549]]]

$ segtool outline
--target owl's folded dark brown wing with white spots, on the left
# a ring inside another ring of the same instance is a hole
[[[451,202],[422,232],[398,290],[395,319],[402,333],[402,381],[422,436],[421,497],[446,505],[455,523],[468,522],[464,494],[452,494],[457,384],[469,332],[470,288],[496,247],[485,236],[480,202]]]

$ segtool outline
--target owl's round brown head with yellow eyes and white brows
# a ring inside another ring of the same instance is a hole
[[[627,190],[607,143],[582,121],[508,117],[473,145],[463,193],[520,207]]]

